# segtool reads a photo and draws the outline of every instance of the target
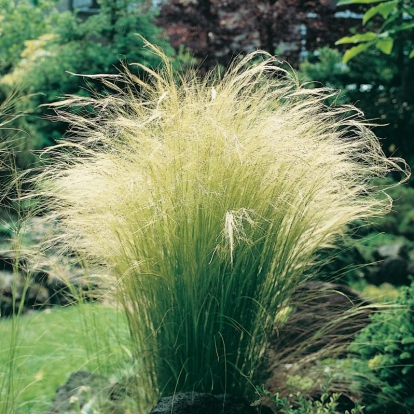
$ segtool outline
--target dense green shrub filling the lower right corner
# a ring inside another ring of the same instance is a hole
[[[414,412],[414,284],[396,303],[372,315],[350,347],[367,413]]]

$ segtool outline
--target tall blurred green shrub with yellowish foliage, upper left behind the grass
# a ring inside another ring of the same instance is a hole
[[[0,0],[0,4],[2,1],[13,3]],[[19,6],[26,12],[24,16],[36,21],[39,8],[28,0],[22,3],[26,3],[25,8]],[[30,95],[21,105],[21,110],[27,116],[15,125],[30,133],[30,139],[25,141],[30,143],[30,149],[53,144],[64,135],[67,128],[65,123],[46,119],[52,113],[47,106],[42,105],[56,101],[62,94],[88,96],[89,89],[105,90],[103,83],[95,82],[93,78],[85,82],[81,76],[74,74],[115,75],[123,65],[131,62],[156,67],[160,64],[159,57],[142,47],[143,41],[137,34],[162,46],[166,53],[174,54],[167,38],[162,36],[161,29],[153,23],[153,14],[144,10],[145,2],[142,0],[101,0],[100,12],[87,19],[71,12],[46,12],[46,5],[51,7],[52,3],[53,0],[40,1],[47,19],[42,27],[32,30],[32,36],[24,32],[25,42],[22,40],[19,44],[19,50],[16,50],[19,53],[15,54],[13,65],[2,73],[0,64],[0,96],[16,85],[21,85],[24,92]],[[29,25],[26,18],[20,17],[19,20],[17,16],[18,13],[5,13],[4,19],[13,17],[14,26],[17,27]],[[0,12],[0,20],[1,17]],[[12,41],[16,27],[12,29],[8,24],[5,29],[5,40]],[[181,53],[181,63],[183,60],[185,57]],[[135,69],[137,74],[139,69]]]

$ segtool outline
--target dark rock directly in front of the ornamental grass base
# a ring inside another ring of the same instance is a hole
[[[232,395],[197,392],[178,393],[160,399],[150,414],[271,414],[268,407],[253,407],[246,400]]]

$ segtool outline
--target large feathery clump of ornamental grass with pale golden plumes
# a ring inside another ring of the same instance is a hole
[[[257,52],[200,80],[164,58],[157,72],[139,65],[145,82],[101,76],[112,95],[56,107],[72,134],[40,192],[65,242],[112,269],[102,283],[124,306],[153,399],[249,393],[318,251],[388,208],[370,180],[395,160],[353,108],[325,107],[327,91],[277,63]]]

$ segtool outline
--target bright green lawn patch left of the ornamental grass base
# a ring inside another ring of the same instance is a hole
[[[44,413],[59,385],[80,369],[114,372],[125,357],[127,327],[116,309],[87,304],[53,308],[15,319],[13,413]],[[10,380],[13,321],[0,321],[0,384]],[[4,390],[4,387],[3,387]],[[4,413],[4,391],[0,412]]]

